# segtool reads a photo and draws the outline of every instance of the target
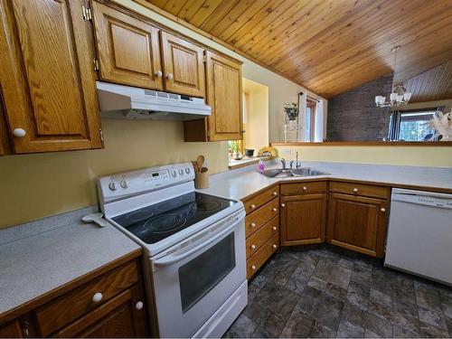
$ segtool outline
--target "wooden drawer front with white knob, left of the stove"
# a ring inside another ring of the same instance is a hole
[[[70,324],[81,315],[104,304],[138,281],[137,263],[130,262],[75,288],[36,310],[36,319],[42,336],[47,336]],[[94,295],[101,293],[98,302]]]

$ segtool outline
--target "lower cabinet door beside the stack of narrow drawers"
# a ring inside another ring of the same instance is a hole
[[[324,242],[326,193],[281,198],[281,246]]]

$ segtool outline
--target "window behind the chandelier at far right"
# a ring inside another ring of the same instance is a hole
[[[422,111],[394,111],[391,114],[390,135],[392,141],[428,141],[435,135],[435,129],[428,121],[436,114],[436,109]]]

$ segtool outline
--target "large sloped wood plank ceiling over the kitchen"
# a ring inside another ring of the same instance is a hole
[[[136,0],[184,20],[325,98],[452,60],[451,0]]]

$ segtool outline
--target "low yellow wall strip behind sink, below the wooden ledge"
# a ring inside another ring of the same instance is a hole
[[[307,161],[452,167],[450,146],[282,146],[278,155]]]

